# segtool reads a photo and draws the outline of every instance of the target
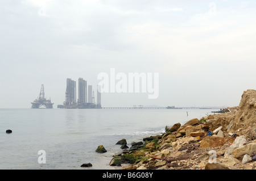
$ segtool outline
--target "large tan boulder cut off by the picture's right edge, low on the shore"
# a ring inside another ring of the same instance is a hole
[[[247,144],[245,146],[241,146],[240,148],[234,149],[232,151],[232,155],[235,158],[242,159],[243,155],[248,154],[250,156],[256,154],[256,143]]]

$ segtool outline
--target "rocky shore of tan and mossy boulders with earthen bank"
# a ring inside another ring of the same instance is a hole
[[[230,112],[176,123],[161,135],[117,144],[111,166],[123,170],[146,169],[256,169],[256,91],[242,94],[238,107]]]

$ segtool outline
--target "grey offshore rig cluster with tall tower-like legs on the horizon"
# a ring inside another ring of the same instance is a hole
[[[67,78],[67,89],[65,94],[65,101],[63,105],[57,105],[57,108],[67,108],[67,109],[88,109],[88,108],[102,108],[101,107],[101,93],[100,86],[97,86],[97,104],[95,103],[94,91],[92,85],[88,85],[87,91],[87,81],[83,78],[79,78],[79,98],[76,102],[76,81],[71,78]],[[88,96],[87,96],[88,95]]]

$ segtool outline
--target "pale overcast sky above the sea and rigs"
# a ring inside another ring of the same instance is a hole
[[[158,73],[159,95],[103,92],[102,107],[238,106],[256,89],[256,2],[0,1],[0,108],[31,108],[44,85],[63,104],[66,79]],[[78,92],[77,92],[78,98]]]

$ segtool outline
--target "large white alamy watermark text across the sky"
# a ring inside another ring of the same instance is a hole
[[[115,68],[110,69],[110,74],[101,72],[97,79],[101,80],[100,92],[111,93],[148,93],[148,99],[157,99],[159,96],[159,73],[115,73]]]

